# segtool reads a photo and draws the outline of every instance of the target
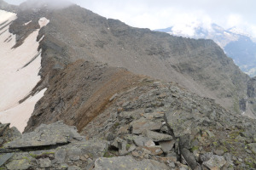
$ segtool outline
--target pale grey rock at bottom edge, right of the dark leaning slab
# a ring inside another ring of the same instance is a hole
[[[210,160],[204,161],[202,163],[202,166],[209,169],[220,169],[221,167],[224,167],[225,163],[226,161],[224,159],[224,156],[213,155]]]

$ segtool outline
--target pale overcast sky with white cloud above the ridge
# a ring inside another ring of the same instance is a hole
[[[5,0],[19,4],[24,0]],[[56,0],[52,0],[56,1]],[[61,1],[61,0],[58,0]],[[256,37],[256,0],[71,0],[107,18],[152,30],[176,24],[236,26]]]

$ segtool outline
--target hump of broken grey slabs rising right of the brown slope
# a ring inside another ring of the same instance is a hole
[[[165,163],[167,167],[160,169],[253,169],[255,125],[212,99],[176,84],[145,79],[116,94],[113,106],[82,133],[87,139],[107,139],[105,156],[112,161],[123,162],[115,156],[131,156]],[[100,162],[108,166],[106,159]]]

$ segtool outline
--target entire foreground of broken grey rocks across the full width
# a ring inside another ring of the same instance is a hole
[[[22,136],[0,126],[1,169],[255,169],[256,123],[145,78],[82,131],[63,122]]]

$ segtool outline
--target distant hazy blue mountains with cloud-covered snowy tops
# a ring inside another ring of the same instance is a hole
[[[167,32],[174,36],[212,39],[230,58],[234,59],[241,71],[246,72],[250,77],[256,76],[256,42],[253,41],[253,37],[236,27],[225,30],[216,24],[202,26],[194,23],[156,31]]]

